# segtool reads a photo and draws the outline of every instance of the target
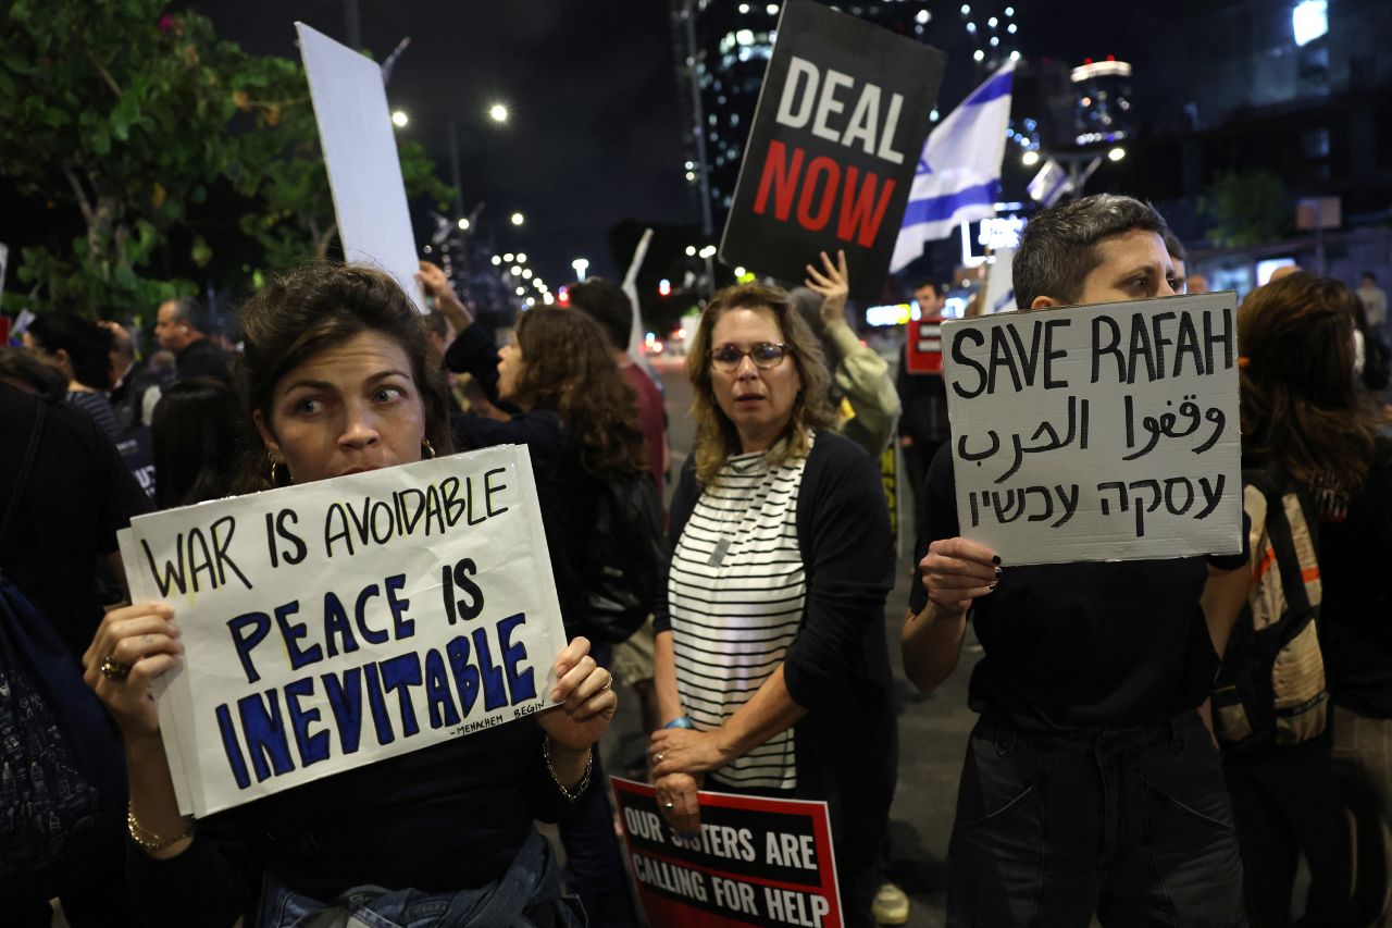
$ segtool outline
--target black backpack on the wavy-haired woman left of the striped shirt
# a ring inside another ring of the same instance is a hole
[[[594,527],[585,549],[585,628],[618,644],[653,612],[667,573],[663,503],[653,475],[597,478]]]

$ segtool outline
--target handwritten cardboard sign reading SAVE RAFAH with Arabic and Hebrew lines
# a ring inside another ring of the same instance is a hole
[[[1006,564],[1242,550],[1231,291],[949,320],[963,538]]]

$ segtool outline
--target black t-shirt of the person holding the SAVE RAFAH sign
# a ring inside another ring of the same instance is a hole
[[[960,534],[948,444],[924,484],[923,534],[915,563]],[[972,674],[974,711],[1045,730],[1143,726],[1208,697],[1218,655],[1199,603],[1203,557],[1002,569],[970,613],[986,649]],[[917,573],[909,602],[927,605]]]

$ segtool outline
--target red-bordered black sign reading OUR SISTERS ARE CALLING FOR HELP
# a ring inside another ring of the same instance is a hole
[[[683,839],[651,786],[610,783],[649,924],[842,925],[825,803],[702,791],[700,833]]]

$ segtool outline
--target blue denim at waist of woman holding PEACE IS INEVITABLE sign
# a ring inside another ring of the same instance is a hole
[[[457,893],[354,886],[330,903],[267,874],[260,928],[585,928],[585,911],[561,896],[551,846],[536,829],[498,879]]]

